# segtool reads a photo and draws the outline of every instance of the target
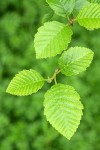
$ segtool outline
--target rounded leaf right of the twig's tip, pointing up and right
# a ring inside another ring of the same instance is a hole
[[[72,76],[85,71],[93,59],[93,54],[88,48],[71,47],[59,59],[61,73],[66,76]]]

